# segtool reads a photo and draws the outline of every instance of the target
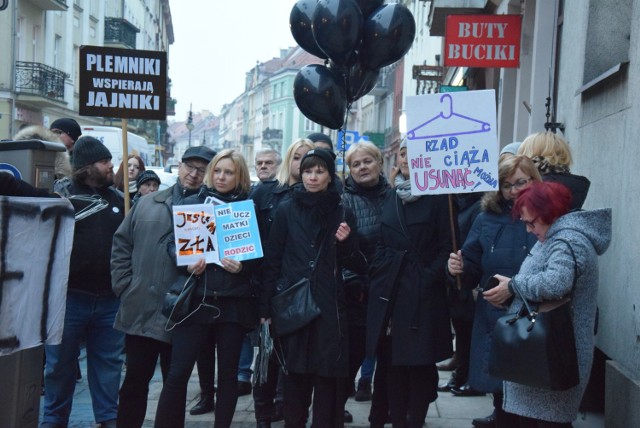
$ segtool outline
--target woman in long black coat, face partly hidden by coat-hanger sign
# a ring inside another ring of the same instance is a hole
[[[442,268],[452,237],[447,196],[411,195],[406,156],[401,145],[370,268],[367,352],[387,367],[393,426],[420,428],[437,398],[436,362],[453,352]]]

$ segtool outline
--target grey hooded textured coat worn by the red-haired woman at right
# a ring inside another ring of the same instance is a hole
[[[571,243],[578,262],[578,280],[573,296],[573,329],[578,351],[580,384],[567,391],[548,391],[504,382],[507,412],[544,421],[567,423],[578,415],[578,406],[589,380],[593,360],[593,327],[598,294],[598,256],[611,242],[611,210],[576,211],[556,220],[544,242],[538,242],[522,263],[513,281],[531,301],[556,300],[568,294],[574,277]],[[509,312],[518,311],[516,298]]]

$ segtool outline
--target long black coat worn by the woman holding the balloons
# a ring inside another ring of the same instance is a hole
[[[265,252],[263,298],[268,302],[270,296],[308,277],[310,265],[324,240],[310,277],[313,297],[321,314],[302,329],[277,339],[276,349],[280,350],[281,346],[284,366],[290,372],[346,377],[348,338],[339,261],[356,270],[357,263],[363,261],[357,250],[355,218],[340,203],[334,185],[322,193],[309,193],[297,185],[292,192],[292,199],[278,207],[271,227]],[[339,243],[335,233],[341,221],[349,224],[351,234]],[[260,306],[269,307],[267,303]]]

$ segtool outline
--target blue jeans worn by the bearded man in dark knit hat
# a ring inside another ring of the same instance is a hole
[[[86,340],[87,379],[96,422],[118,414],[124,333],[113,328],[120,301],[115,296],[67,292],[60,345],[46,345],[43,423],[67,426],[76,387],[76,361]]]

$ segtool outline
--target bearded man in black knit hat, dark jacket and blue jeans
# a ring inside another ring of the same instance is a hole
[[[41,428],[66,427],[76,385],[76,359],[86,341],[87,376],[95,420],[116,426],[124,334],[113,328],[119,300],[111,290],[111,244],[124,218],[124,202],[111,188],[111,153],[84,136],[74,148],[73,176],[65,188],[76,210],[67,306],[60,345],[45,346]]]

